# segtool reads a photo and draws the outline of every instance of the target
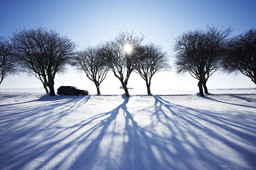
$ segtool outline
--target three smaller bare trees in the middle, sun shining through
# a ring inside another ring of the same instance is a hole
[[[142,45],[144,38],[143,35],[121,31],[114,40],[78,52],[74,65],[94,82],[98,94],[99,85],[109,70],[120,81],[126,96],[130,96],[127,83],[133,71],[145,80],[147,93],[151,94],[152,77],[168,68],[168,56],[161,46],[153,43]]]

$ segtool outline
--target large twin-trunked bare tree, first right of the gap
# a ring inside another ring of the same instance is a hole
[[[182,33],[176,39],[174,51],[175,65],[178,74],[189,74],[199,80],[198,87],[201,96],[208,93],[206,82],[208,78],[221,67],[221,59],[225,54],[230,28],[218,30],[217,27],[207,27],[206,31],[194,30]],[[204,92],[203,92],[204,87]]]

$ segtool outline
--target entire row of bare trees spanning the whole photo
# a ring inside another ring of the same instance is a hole
[[[125,95],[130,96],[127,83],[134,71],[145,80],[147,93],[151,94],[152,77],[170,68],[170,57],[175,59],[178,74],[188,72],[198,80],[202,96],[208,93],[207,80],[217,70],[241,72],[256,84],[256,30],[232,37],[231,33],[230,28],[215,26],[183,32],[175,39],[174,55],[168,56],[161,45],[143,44],[143,34],[127,30],[120,31],[113,40],[78,51],[75,42],[55,30],[23,28],[9,39],[0,37],[0,84],[8,75],[28,72],[54,96],[55,75],[72,65],[94,82],[97,93],[111,71]]]

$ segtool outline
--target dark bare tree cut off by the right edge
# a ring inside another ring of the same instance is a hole
[[[227,72],[240,71],[256,84],[256,30],[251,29],[230,39],[223,68]]]

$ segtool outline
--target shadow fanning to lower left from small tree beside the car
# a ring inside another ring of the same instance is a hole
[[[11,165],[10,169],[23,168],[28,162],[50,150],[52,144],[43,144],[55,137],[55,130],[49,127],[57,124],[61,118],[73,113],[81,105],[86,104],[90,97],[74,96],[67,100],[62,99],[58,102],[50,100],[48,103],[43,104],[41,103],[42,100],[38,99],[34,102],[30,101],[30,106],[23,106],[22,104],[24,103],[19,103],[20,105],[17,107],[12,105],[11,109],[9,107],[1,109],[3,112],[0,114],[0,129],[5,129],[5,131],[1,131],[0,136],[5,136],[5,138],[0,140],[0,145],[3,148],[11,147],[8,152],[0,153],[0,161],[2,162],[0,163],[0,169],[4,169],[7,165]],[[30,124],[22,124],[23,120],[26,119],[30,120]],[[49,136],[35,138],[45,131],[52,131],[53,133]],[[9,132],[12,132],[12,134],[9,134]],[[16,142],[18,140],[20,142]],[[41,147],[38,148],[38,146]],[[15,157],[12,153],[16,154]]]

